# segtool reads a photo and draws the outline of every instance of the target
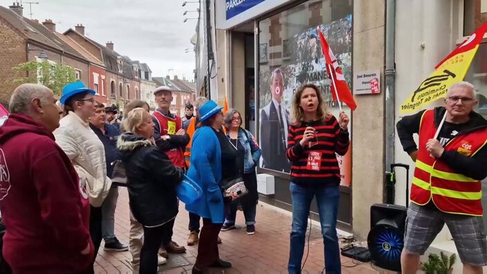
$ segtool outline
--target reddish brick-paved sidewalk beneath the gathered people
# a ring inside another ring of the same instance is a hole
[[[196,260],[198,246],[187,246],[188,214],[183,203],[174,226],[173,240],[185,245],[187,253],[183,255],[169,254],[167,264],[160,267],[160,273],[191,273],[192,264]],[[291,230],[291,214],[268,206],[257,205],[257,224],[255,235],[246,235],[245,221],[241,212],[237,213],[237,230],[221,232],[223,244],[219,245],[222,259],[232,263],[232,268],[224,273],[287,273],[289,255],[289,232]],[[127,189],[120,188],[120,197],[116,210],[116,236],[124,244],[129,242],[129,199]],[[306,235],[307,239],[307,235]],[[103,243],[102,243],[103,246]],[[306,250],[304,248],[304,257]],[[303,258],[304,259],[304,258]],[[125,252],[107,252],[100,248],[95,264],[95,273],[131,273],[131,255]],[[303,273],[321,273],[324,267],[323,244],[318,226],[311,229],[309,241],[309,257]],[[353,266],[353,267],[351,267]],[[187,272],[186,272],[187,271]],[[212,273],[223,273],[215,268]],[[351,259],[342,257],[342,273],[378,273],[370,263],[354,264]]]

